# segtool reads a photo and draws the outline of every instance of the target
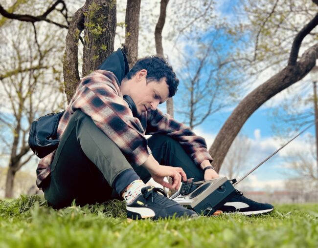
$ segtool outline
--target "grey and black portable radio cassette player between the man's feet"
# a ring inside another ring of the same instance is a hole
[[[180,190],[170,197],[183,207],[192,208],[199,214],[212,215],[235,194],[235,188],[227,177],[193,182],[182,182]]]

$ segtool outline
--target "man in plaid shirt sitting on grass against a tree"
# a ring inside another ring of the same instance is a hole
[[[119,197],[132,219],[196,216],[162,189],[144,184],[152,177],[178,189],[187,177],[219,177],[204,139],[157,109],[175,95],[178,84],[172,67],[158,57],[141,59],[128,71],[121,49],[83,78],[59,123],[57,150],[38,165],[37,185],[48,204],[61,208],[74,199],[85,205]],[[147,140],[146,134],[153,136]],[[232,202],[243,207],[273,210],[239,193],[235,197]]]

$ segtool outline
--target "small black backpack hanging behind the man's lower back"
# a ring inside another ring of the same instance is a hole
[[[40,159],[54,151],[59,145],[57,127],[65,111],[41,116],[31,124],[28,144]]]

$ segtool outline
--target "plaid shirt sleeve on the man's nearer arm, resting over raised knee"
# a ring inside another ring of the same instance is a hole
[[[95,71],[82,81],[70,111],[81,109],[122,151],[131,165],[141,165],[151,151],[139,119],[120,97],[114,74]]]

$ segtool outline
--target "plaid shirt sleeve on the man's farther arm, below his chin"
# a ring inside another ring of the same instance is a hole
[[[177,122],[159,109],[148,115],[146,134],[166,134],[178,141],[185,152],[199,166],[204,160],[213,161],[207,151],[204,138],[197,136],[190,127]]]

